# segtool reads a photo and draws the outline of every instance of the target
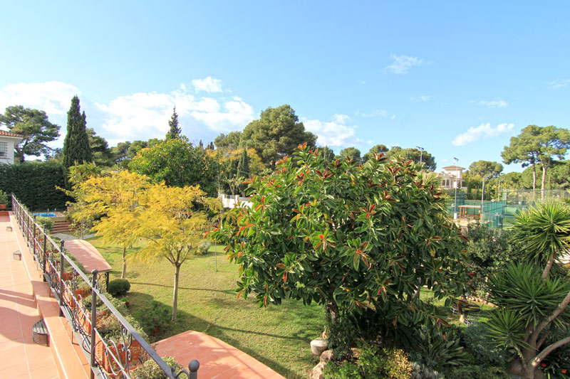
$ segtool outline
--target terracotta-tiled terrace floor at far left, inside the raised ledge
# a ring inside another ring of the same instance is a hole
[[[0,378],[59,378],[47,346],[33,343],[31,328],[41,319],[9,216],[0,215]],[[14,228],[14,227],[13,227]]]

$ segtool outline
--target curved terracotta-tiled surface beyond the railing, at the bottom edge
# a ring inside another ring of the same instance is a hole
[[[187,367],[192,359],[200,363],[198,378],[284,379],[271,368],[207,334],[185,331],[155,343],[159,356],[171,356]]]

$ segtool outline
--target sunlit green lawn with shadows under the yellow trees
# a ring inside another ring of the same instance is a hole
[[[121,251],[93,238],[89,240],[113,267],[111,279],[120,277]],[[132,253],[140,247],[128,250]],[[177,321],[159,339],[187,330],[200,331],[248,353],[286,378],[307,378],[318,361],[309,343],[323,331],[322,306],[284,301],[259,308],[254,297],[237,299],[234,289],[237,266],[230,264],[222,248],[187,260],[180,271]],[[133,316],[144,316],[152,300],[172,309],[174,267],[166,260],[154,265],[129,262],[128,294]]]

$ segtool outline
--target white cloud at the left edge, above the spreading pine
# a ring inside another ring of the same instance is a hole
[[[81,95],[81,91],[63,82],[9,84],[0,90],[0,110],[10,105],[24,105],[47,114],[66,114],[75,95]]]

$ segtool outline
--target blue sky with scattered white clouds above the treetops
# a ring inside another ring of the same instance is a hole
[[[46,110],[63,135],[77,94],[113,145],[162,137],[174,105],[207,143],[289,104],[337,152],[501,161],[528,124],[570,126],[570,4],[547,4],[9,1],[0,110]]]

